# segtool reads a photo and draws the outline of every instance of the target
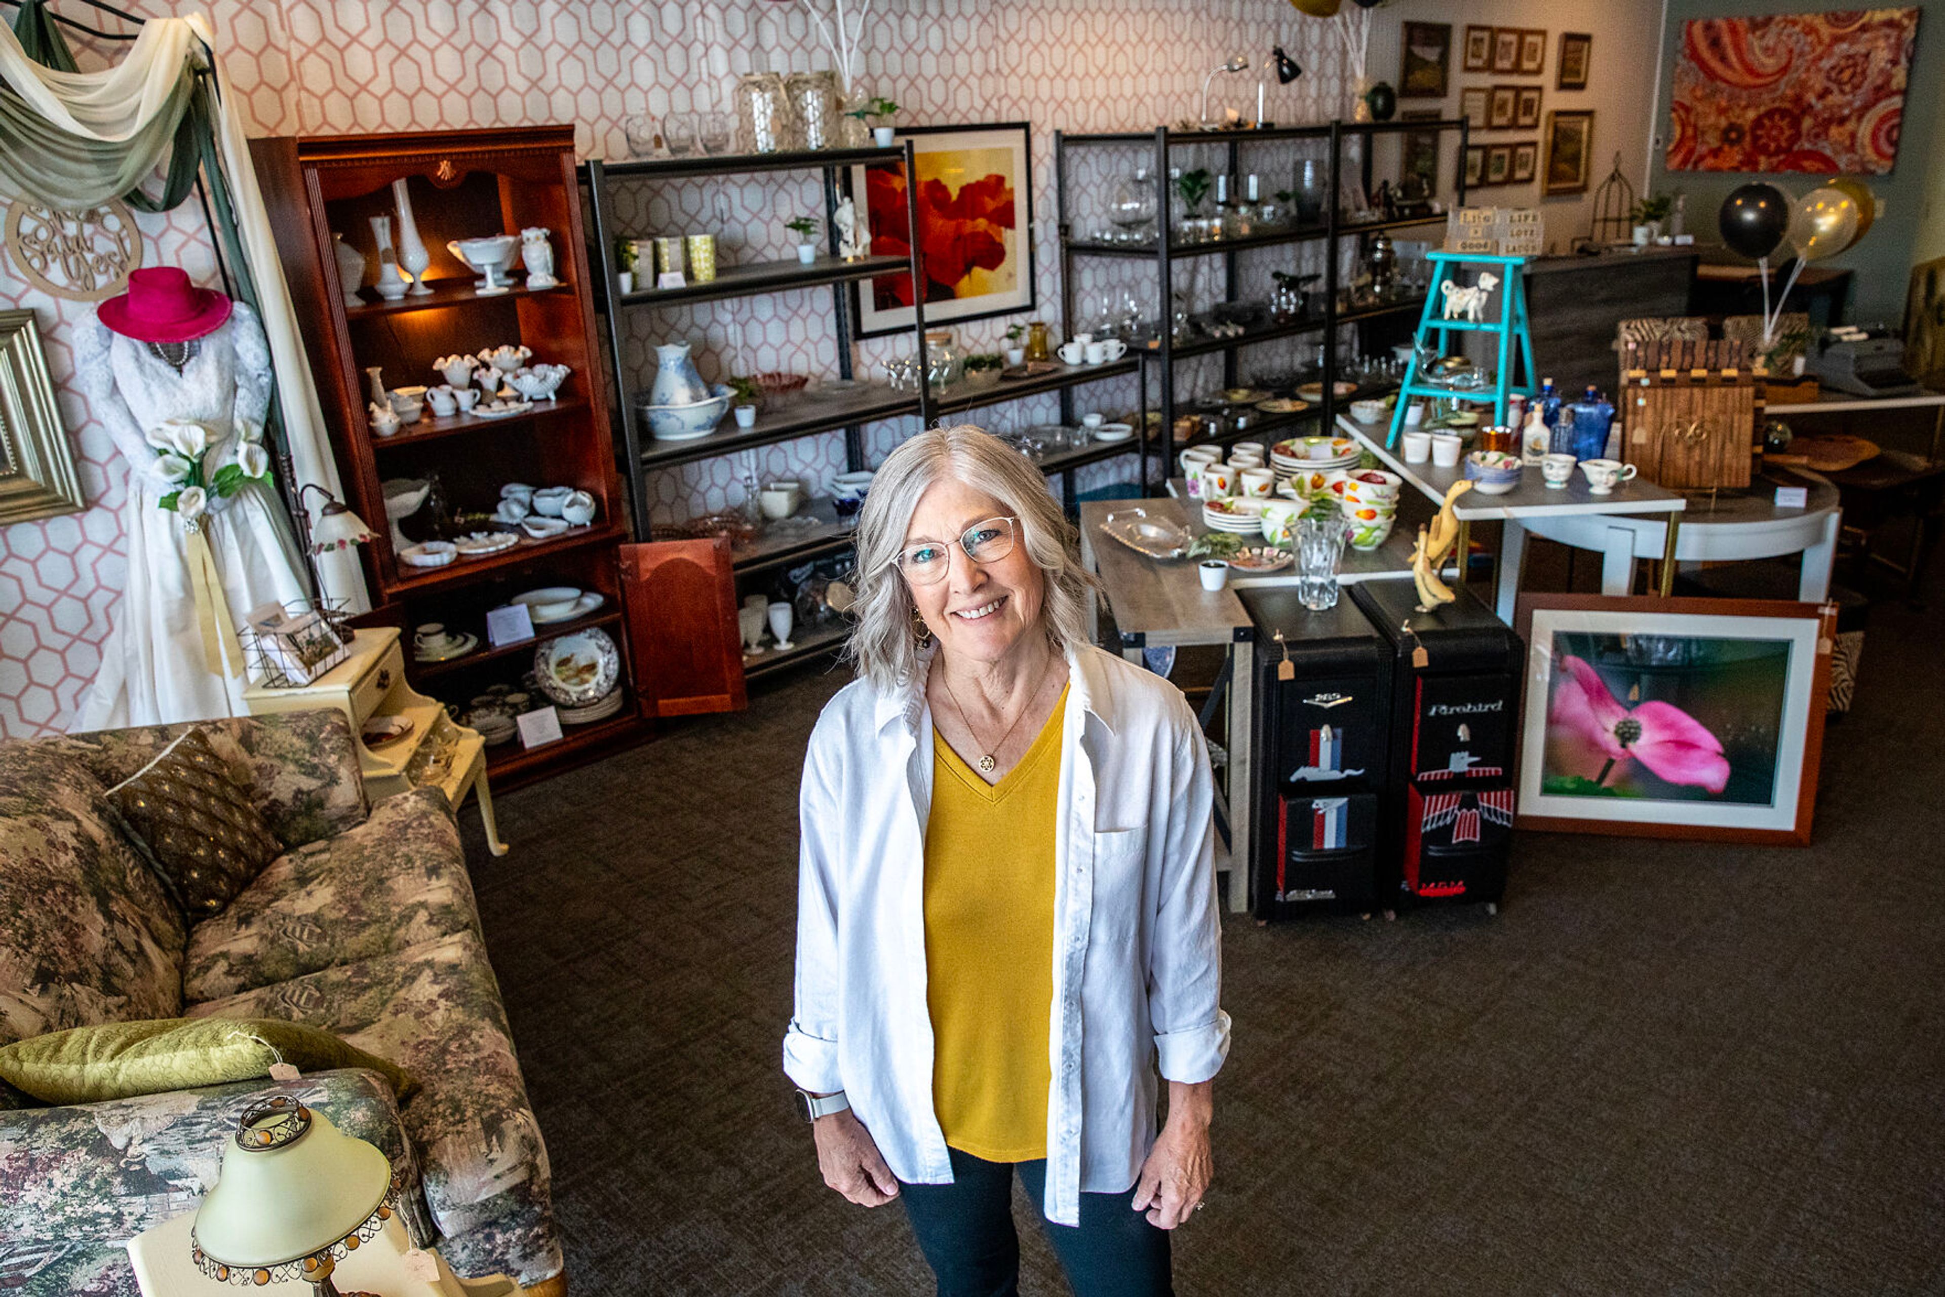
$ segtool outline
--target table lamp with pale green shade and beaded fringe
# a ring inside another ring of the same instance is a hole
[[[377,1147],[276,1095],[237,1118],[191,1246],[196,1268],[220,1283],[303,1279],[317,1297],[344,1297],[331,1272],[385,1227],[397,1202],[399,1180]]]

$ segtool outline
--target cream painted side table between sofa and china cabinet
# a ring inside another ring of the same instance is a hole
[[[457,811],[467,793],[473,793],[480,803],[486,850],[506,856],[506,842],[494,824],[492,789],[486,786],[486,741],[477,729],[455,723],[438,700],[407,684],[397,626],[362,628],[352,636],[350,657],[309,684],[294,688],[253,684],[243,690],[243,702],[251,716],[336,708],[352,723],[358,772],[373,801],[430,782]],[[364,723],[373,716],[405,718],[412,729],[403,739],[373,749],[360,737]],[[428,743],[434,747],[428,749]],[[443,758],[438,754],[440,745],[449,745],[449,754]]]

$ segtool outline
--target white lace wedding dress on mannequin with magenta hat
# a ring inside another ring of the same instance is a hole
[[[165,356],[181,356],[181,371]],[[261,428],[270,406],[270,350],[263,325],[239,301],[216,333],[187,344],[152,346],[89,317],[74,336],[74,385],[128,463],[123,504],[128,576],[115,628],[101,646],[101,671],[74,729],[247,714],[247,677],[220,677],[204,667],[187,535],[181,519],[156,504],[173,488],[150,476],[156,447],[144,434],[169,418],[193,420],[210,432],[206,474],[231,463],[237,426]],[[233,622],[241,624],[263,603],[309,597],[303,556],[272,490],[245,482],[228,500],[212,492],[202,531],[222,572]]]

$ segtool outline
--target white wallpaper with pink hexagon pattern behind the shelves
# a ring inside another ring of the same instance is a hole
[[[148,14],[171,10],[165,0],[132,6]],[[831,66],[803,10],[788,0],[214,0],[210,18],[251,134],[572,121],[584,156],[624,158],[620,123],[632,113],[727,109],[743,72]],[[1278,121],[1323,121],[1348,109],[1336,33],[1299,16],[1288,0],[879,0],[864,39],[860,84],[897,99],[906,123],[1033,123],[1039,313],[1058,319],[1052,132],[1149,128],[1192,115],[1208,68],[1231,53],[1260,62],[1274,43],[1305,68],[1295,86],[1272,86]],[[84,66],[99,66],[89,62],[91,51],[80,53]],[[1239,107],[1245,93],[1253,103],[1253,78],[1221,82],[1229,86],[1218,89],[1218,103],[1221,89]],[[1097,194],[1093,202],[1132,161],[1134,152],[1105,152],[1089,163],[1083,181]],[[624,198],[640,233],[665,222],[704,224],[720,231],[725,255],[788,255],[776,181],[661,185]],[[1074,220],[1087,224],[1091,216],[1083,198]],[[214,276],[196,208],[140,224],[148,264],[183,264],[204,282]],[[1153,272],[1111,263],[1081,288],[1136,288],[1151,298]],[[1196,298],[1212,292],[1214,276],[1206,274]],[[68,331],[86,307],[27,290],[12,266],[0,272],[0,301],[41,313],[49,360],[64,383],[72,364]],[[829,301],[829,292],[817,290],[702,305],[687,317],[638,313],[624,340],[626,360],[648,383],[650,344],[689,336],[706,371],[729,366],[834,373]],[[996,348],[1006,323],[967,325],[959,340]],[[895,344],[860,344],[860,371]],[[1185,366],[1183,381],[1192,389],[1210,379]],[[1085,395],[1105,408],[1132,408],[1138,399],[1132,379]],[[1054,410],[1054,401],[1043,399],[980,416],[1009,428],[1044,422]],[[0,531],[0,735],[49,733],[66,723],[93,677],[124,578],[124,469],[86,403],[64,391],[62,412],[91,508]],[[916,420],[906,424],[875,428],[871,455],[916,430]],[[745,471],[819,482],[840,467],[840,434],[704,461],[657,474],[654,513],[683,517],[741,500]],[[1124,471],[1109,465],[1081,486],[1114,476]]]

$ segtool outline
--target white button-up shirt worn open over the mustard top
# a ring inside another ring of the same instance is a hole
[[[1155,1138],[1155,1068],[1206,1081],[1229,1052],[1212,776],[1167,681],[1097,648],[1068,653],[1054,824],[1054,999],[1046,1202],[1126,1192]],[[796,1017],[784,1071],[842,1089],[893,1174],[953,1178],[932,1108],[924,865],[932,813],[924,690],[842,688],[803,760]]]

